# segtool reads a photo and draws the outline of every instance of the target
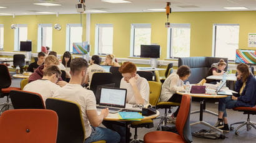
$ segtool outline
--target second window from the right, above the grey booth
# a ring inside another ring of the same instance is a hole
[[[190,24],[170,24],[167,58],[190,57]]]

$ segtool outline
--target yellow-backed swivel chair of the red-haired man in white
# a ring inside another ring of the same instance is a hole
[[[162,85],[156,81],[148,81],[149,82],[149,103],[152,106],[155,106],[159,100],[159,96],[161,93]],[[151,128],[154,127],[152,119],[145,119],[142,121],[134,121],[131,122],[130,127],[135,128],[134,139],[131,142],[143,142],[141,139],[137,139],[137,128],[138,127],[146,127]]]

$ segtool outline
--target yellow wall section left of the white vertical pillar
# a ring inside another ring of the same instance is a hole
[[[82,16],[83,40],[86,39],[86,14]],[[37,52],[37,27],[38,24],[52,24],[52,50],[58,54],[66,51],[66,25],[79,24],[79,14],[41,15],[41,16],[0,16],[0,24],[4,24],[4,51],[14,50],[14,30],[11,24],[27,24],[27,39],[32,40],[32,52]],[[62,29],[54,29],[54,24],[61,24]]]

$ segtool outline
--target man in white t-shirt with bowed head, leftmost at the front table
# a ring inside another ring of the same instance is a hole
[[[23,90],[39,93],[45,102],[47,98],[52,97],[54,91],[61,88],[61,86],[56,85],[60,76],[61,70],[59,70],[56,65],[49,65],[46,69],[44,69],[41,80],[35,80],[28,83]]]

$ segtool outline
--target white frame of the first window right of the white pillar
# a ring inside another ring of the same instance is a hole
[[[112,37],[112,51],[114,51],[114,25],[113,24],[96,24],[95,27],[95,49],[94,49],[94,54],[96,55],[107,55],[107,54],[112,54],[112,53],[99,53],[99,29],[101,27],[112,27],[113,29],[113,37]]]

